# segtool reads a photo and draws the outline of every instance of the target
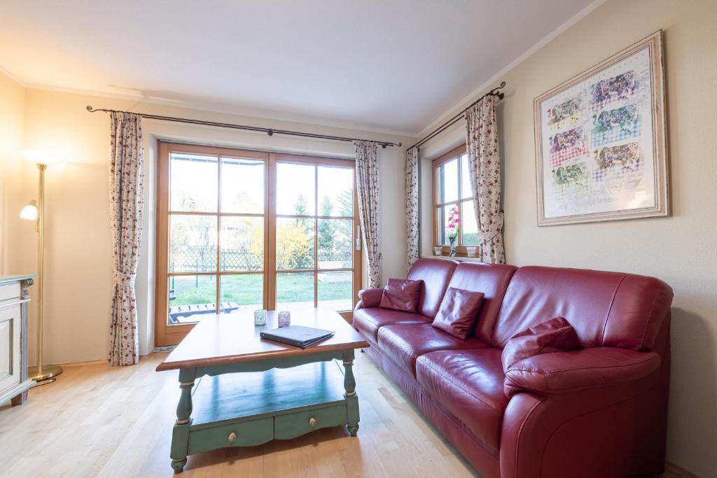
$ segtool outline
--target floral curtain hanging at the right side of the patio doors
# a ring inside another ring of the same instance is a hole
[[[356,194],[359,199],[361,234],[369,259],[369,287],[381,285],[381,254],[379,254],[379,166],[376,162],[378,144],[356,140]]]

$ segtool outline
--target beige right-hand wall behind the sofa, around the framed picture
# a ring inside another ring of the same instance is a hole
[[[498,108],[508,262],[635,272],[673,287],[668,459],[703,477],[717,476],[716,21],[713,0],[607,1],[498,79],[508,84]],[[538,228],[533,98],[657,29],[665,31],[672,216]],[[463,141],[463,128],[422,148],[423,204],[429,159]],[[424,254],[429,247],[424,240]]]

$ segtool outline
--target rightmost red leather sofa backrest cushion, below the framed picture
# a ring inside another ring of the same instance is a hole
[[[508,285],[488,342],[503,348],[516,333],[561,316],[584,347],[651,350],[672,298],[670,286],[654,277],[521,267]]]

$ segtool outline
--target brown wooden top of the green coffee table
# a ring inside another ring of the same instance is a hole
[[[262,330],[278,327],[275,310],[267,312],[267,324],[260,326],[254,325],[253,311],[205,315],[156,370],[226,365],[369,347],[361,334],[331,309],[292,310],[291,325],[333,330],[334,335],[308,348],[298,348],[260,338]]]

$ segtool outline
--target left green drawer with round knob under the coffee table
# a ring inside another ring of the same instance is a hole
[[[240,421],[229,425],[207,426],[189,430],[189,453],[224,448],[226,446],[253,446],[274,438],[274,419]]]

